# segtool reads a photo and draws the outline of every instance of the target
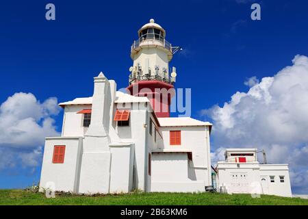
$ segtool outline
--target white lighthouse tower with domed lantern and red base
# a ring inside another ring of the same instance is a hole
[[[169,62],[180,47],[172,47],[166,31],[151,19],[138,30],[138,40],[131,45],[133,66],[129,68],[127,90],[133,96],[147,96],[157,117],[170,117],[170,103],[175,95],[176,68]]]

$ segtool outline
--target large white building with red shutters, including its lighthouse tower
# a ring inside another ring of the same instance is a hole
[[[60,103],[62,136],[46,138],[41,190],[203,192],[211,185],[211,124],[169,117],[176,77],[175,68],[169,77],[169,62],[178,47],[153,19],[138,34],[132,95],[117,92],[116,82],[100,73],[93,96]]]

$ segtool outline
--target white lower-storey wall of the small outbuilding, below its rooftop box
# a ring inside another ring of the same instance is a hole
[[[218,162],[217,169],[218,191],[292,196],[287,164]],[[275,177],[274,183],[270,182],[270,176]],[[285,176],[284,183],[279,176]]]

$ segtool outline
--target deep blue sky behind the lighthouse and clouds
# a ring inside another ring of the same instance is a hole
[[[44,18],[49,2],[55,4],[55,21]],[[261,21],[251,20],[251,3],[261,3]],[[100,71],[125,88],[131,43],[155,18],[166,39],[183,48],[171,65],[177,67],[176,87],[192,88],[192,117],[215,121],[203,110],[222,107],[235,92],[248,92],[248,78],[273,77],[292,65],[295,55],[308,55],[307,10],[307,1],[299,0],[1,2],[0,103],[16,92],[34,94],[40,103],[53,96],[59,102],[91,96],[92,77]],[[50,118],[60,131],[62,112]],[[298,149],[306,143],[299,142]],[[40,165],[19,164],[4,164],[0,188],[38,181]],[[307,166],[296,168],[305,172]]]

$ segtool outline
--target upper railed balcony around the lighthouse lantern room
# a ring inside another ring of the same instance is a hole
[[[164,37],[156,34],[146,34],[140,37],[138,40],[134,40],[131,45],[131,53],[138,53],[141,47],[162,47],[172,53],[172,47],[170,42],[165,40]]]

